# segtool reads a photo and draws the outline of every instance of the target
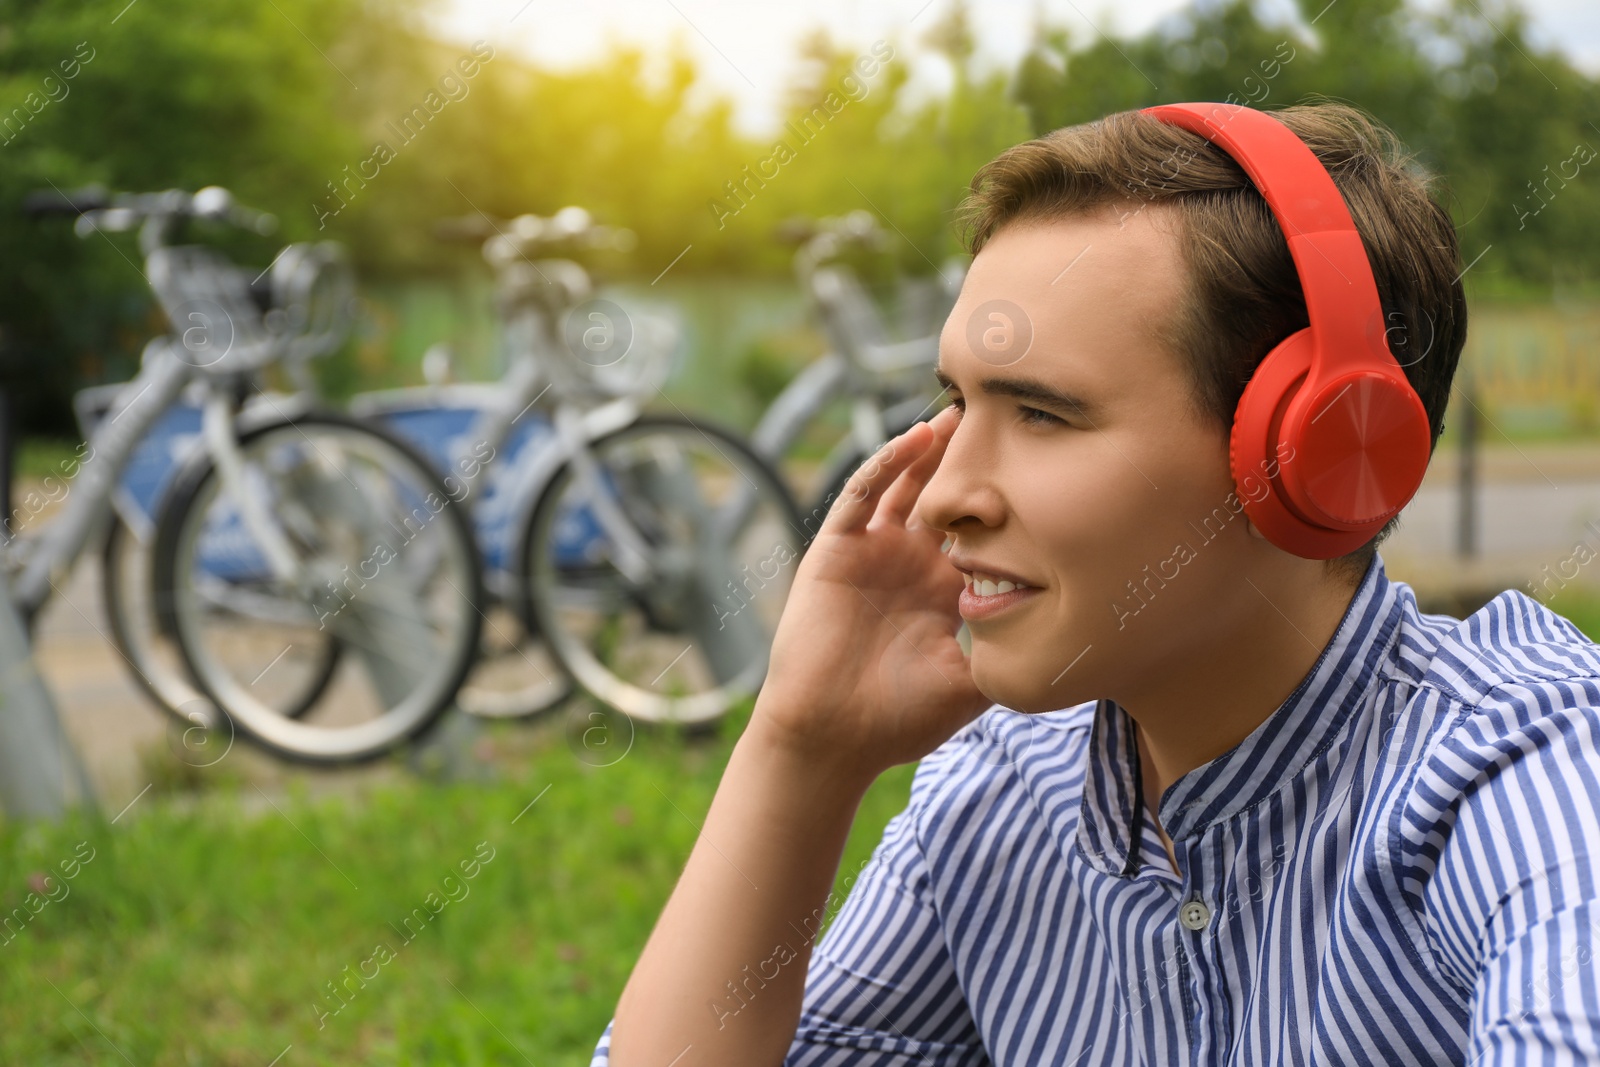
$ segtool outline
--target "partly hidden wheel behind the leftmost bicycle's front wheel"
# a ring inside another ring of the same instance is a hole
[[[122,653],[128,672],[146,696],[184,726],[194,726],[197,713],[214,717],[216,707],[189,680],[178,641],[162,625],[152,589],[154,542],[154,534],[141,537],[120,515],[112,517],[101,558],[106,621],[112,645]],[[328,635],[314,651],[301,685],[274,693],[274,705],[280,715],[304,715],[333,678],[334,667],[339,665],[339,643]]]

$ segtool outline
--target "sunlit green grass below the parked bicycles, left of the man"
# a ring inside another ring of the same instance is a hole
[[[301,782],[274,809],[219,777],[152,790],[115,825],[0,825],[6,913],[30,875],[94,849],[0,944],[0,1062],[261,1067],[286,1046],[282,1067],[587,1062],[747,717],[710,737],[642,731],[603,768],[558,723],[502,725],[493,744],[517,750],[501,761],[515,769],[486,785],[406,777],[314,798]],[[869,792],[840,881],[912,773]],[[480,843],[493,857],[466,880]],[[406,942],[429,893],[442,910]],[[363,965],[376,976],[350,979],[331,1014],[328,984]]]

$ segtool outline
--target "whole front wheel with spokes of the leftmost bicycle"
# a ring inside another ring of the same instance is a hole
[[[467,509],[416,450],[347,416],[254,427],[240,453],[242,485],[298,573],[274,566],[210,456],[181,475],[157,523],[157,608],[195,685],[291,760],[368,760],[421,736],[478,648]],[[307,688],[330,637],[344,654],[323,699],[283,715],[283,693]]]

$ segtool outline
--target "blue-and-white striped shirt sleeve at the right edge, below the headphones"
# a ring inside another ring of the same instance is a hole
[[[1456,774],[1456,821],[1427,939],[1467,997],[1462,1062],[1600,1062],[1600,710],[1522,693],[1430,761],[1435,781]]]

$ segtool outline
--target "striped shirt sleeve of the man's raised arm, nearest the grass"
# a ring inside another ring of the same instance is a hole
[[[800,1022],[782,1067],[990,1065],[957,982],[917,840],[934,776],[971,729],[917,768],[910,803],[890,819],[811,950]],[[608,1067],[614,1022],[606,1024],[590,1067]]]

